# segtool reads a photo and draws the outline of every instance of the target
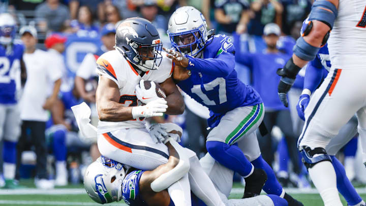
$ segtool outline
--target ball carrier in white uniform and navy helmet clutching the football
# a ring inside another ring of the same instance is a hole
[[[129,18],[116,28],[115,50],[97,60],[99,151],[105,157],[143,170],[155,169],[169,158],[167,146],[150,137],[145,117],[161,116],[163,112],[181,114],[185,108],[170,77],[172,62],[161,49],[159,33],[151,22]],[[159,83],[166,98],[158,97],[153,82],[146,90],[144,80]],[[184,171],[182,167],[179,174],[165,175],[179,177],[168,188],[176,206],[190,206],[190,185]]]

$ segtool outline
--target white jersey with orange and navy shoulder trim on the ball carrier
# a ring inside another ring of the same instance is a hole
[[[163,51],[162,56],[163,60],[159,68],[157,70],[149,70],[141,77],[132,67],[132,63],[127,61],[119,51],[108,51],[98,58],[97,73],[99,76],[111,79],[118,85],[120,104],[126,107],[137,106],[141,102],[136,97],[135,86],[140,82],[140,79],[162,83],[172,75],[172,61],[166,57],[166,53]],[[145,128],[145,118],[140,117],[125,122],[99,121],[98,133],[101,134],[126,128]]]

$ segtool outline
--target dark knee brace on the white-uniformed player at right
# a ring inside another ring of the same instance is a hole
[[[331,162],[331,157],[326,153],[324,148],[315,148],[312,150],[308,146],[303,146],[300,154],[302,162],[308,169],[322,161]]]

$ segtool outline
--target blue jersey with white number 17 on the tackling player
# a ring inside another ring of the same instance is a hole
[[[191,77],[178,86],[197,102],[208,107],[208,126],[216,127],[221,117],[237,107],[262,103],[259,94],[237,78],[235,48],[229,37],[210,38],[203,50],[203,58],[189,58]]]

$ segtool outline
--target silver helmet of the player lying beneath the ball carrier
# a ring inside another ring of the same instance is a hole
[[[100,156],[84,173],[86,193],[94,201],[104,204],[122,199],[122,182],[126,172],[121,163]]]

